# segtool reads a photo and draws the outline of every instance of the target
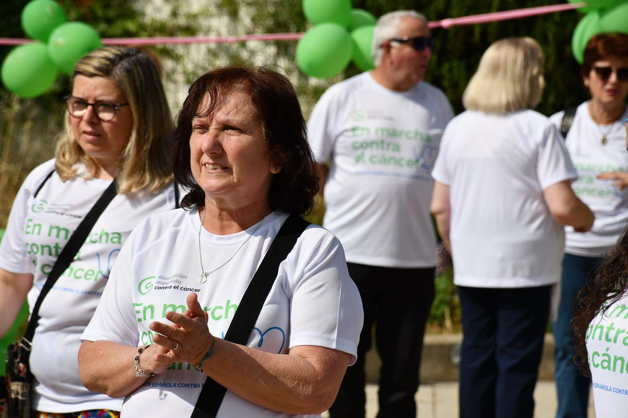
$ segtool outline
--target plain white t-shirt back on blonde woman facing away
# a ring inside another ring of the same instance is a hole
[[[531,287],[558,281],[564,232],[543,190],[578,175],[547,117],[534,110],[463,112],[445,129],[432,176],[450,186],[455,284]]]

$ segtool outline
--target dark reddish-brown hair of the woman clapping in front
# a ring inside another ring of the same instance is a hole
[[[251,105],[262,125],[266,147],[273,158],[281,161],[281,171],[274,174],[271,181],[269,205],[273,210],[295,215],[310,212],[318,192],[318,178],[301,106],[290,80],[265,67],[216,68],[200,76],[188,90],[173,131],[175,178],[190,190],[181,206],[205,205],[205,192],[190,169],[192,120],[212,114],[236,89],[251,98]],[[205,95],[212,100],[208,108],[199,113]]]

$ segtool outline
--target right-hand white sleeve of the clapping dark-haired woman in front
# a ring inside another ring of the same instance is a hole
[[[290,262],[290,348],[316,345],[344,351],[357,359],[364,311],[349,276],[344,250],[332,233],[308,227]]]

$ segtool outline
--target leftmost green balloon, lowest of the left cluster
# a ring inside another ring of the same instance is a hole
[[[0,69],[4,87],[23,99],[50,90],[58,75],[58,68],[48,56],[48,48],[38,41],[14,48]]]

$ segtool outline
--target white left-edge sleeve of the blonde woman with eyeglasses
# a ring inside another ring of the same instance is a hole
[[[19,188],[13,200],[9,220],[2,241],[0,242],[0,269],[11,273],[34,273],[34,265],[28,262],[24,224],[28,216],[28,203],[31,196],[51,170],[55,168],[54,159],[41,164],[31,171]]]

